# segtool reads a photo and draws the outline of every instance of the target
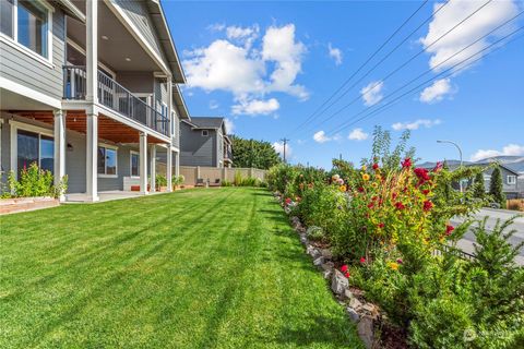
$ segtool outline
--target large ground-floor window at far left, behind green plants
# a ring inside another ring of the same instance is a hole
[[[53,171],[55,141],[35,132],[19,130],[16,135],[17,172],[36,163],[44,170]]]

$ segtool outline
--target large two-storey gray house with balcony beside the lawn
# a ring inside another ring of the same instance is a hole
[[[133,181],[147,193],[157,149],[178,172],[189,116],[159,1],[1,0],[0,12],[3,180],[37,163],[69,177],[66,198],[97,201]]]

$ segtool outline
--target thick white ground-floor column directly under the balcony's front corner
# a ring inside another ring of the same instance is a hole
[[[87,194],[88,201],[98,201],[98,115],[87,113],[86,118],[87,144],[85,151],[85,193]]]

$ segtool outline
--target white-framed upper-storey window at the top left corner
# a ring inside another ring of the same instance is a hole
[[[1,0],[0,32],[49,59],[50,10],[40,1]]]

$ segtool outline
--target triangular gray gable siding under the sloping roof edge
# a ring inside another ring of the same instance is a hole
[[[147,13],[145,1],[139,0],[115,0],[115,4],[120,7],[123,12],[129,16],[134,26],[144,36],[147,44],[153,47],[156,53],[158,53],[164,61],[166,61],[162,46],[155,34],[153,22]]]

